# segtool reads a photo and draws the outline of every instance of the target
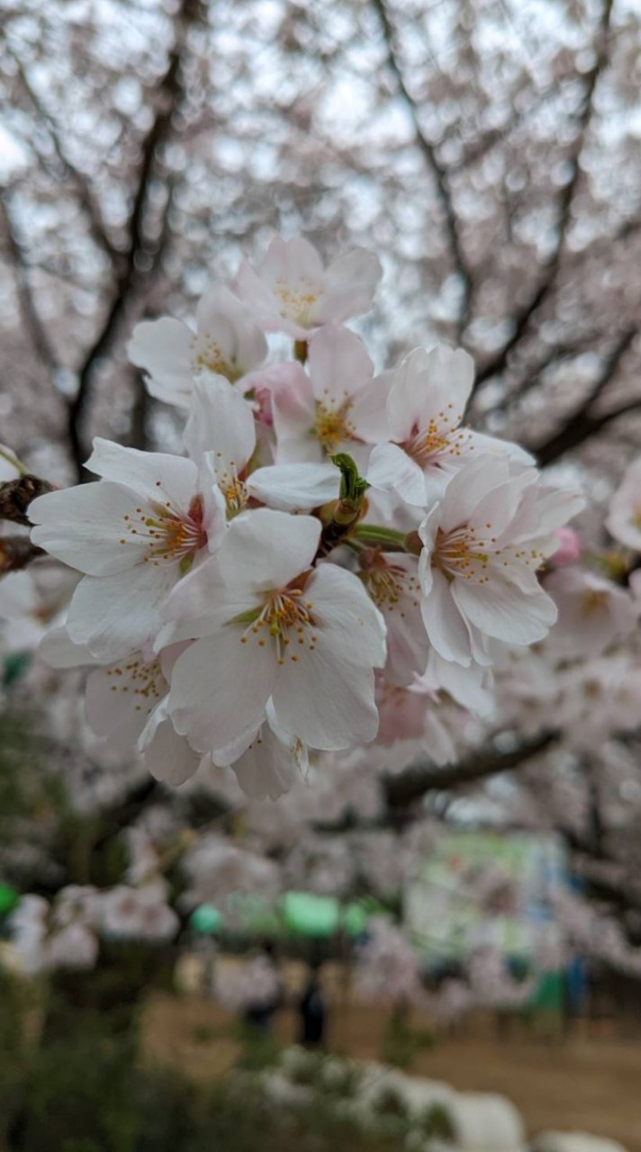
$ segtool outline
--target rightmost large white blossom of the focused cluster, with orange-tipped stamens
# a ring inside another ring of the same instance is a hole
[[[423,620],[439,655],[489,666],[491,642],[543,639],[557,608],[537,570],[557,546],[553,529],[581,506],[507,458],[480,456],[457,472],[420,528]]]

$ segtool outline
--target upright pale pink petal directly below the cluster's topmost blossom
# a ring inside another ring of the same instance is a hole
[[[374,364],[354,332],[326,324],[309,341],[308,370],[316,400],[342,404],[371,379]]]

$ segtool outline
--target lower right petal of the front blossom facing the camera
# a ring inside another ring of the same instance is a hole
[[[286,661],[272,700],[278,723],[323,751],[368,743],[378,729],[372,669],[337,659],[322,635],[297,664]]]

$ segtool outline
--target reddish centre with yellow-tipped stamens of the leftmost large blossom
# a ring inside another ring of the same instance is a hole
[[[157,480],[157,487],[160,487]],[[206,547],[208,533],[203,525],[203,500],[196,495],[188,511],[174,507],[171,500],[150,500],[146,508],[138,506],[134,515],[123,516],[128,536],[136,537],[135,543],[146,543],[144,561],[158,566],[161,560],[168,560],[182,566],[189,564],[196,552]],[[121,544],[127,544],[127,536]]]

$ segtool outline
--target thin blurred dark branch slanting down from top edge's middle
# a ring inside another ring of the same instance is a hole
[[[372,7],[378,16],[378,22],[380,24],[380,30],[383,32],[383,39],[385,41],[385,51],[387,56],[387,67],[392,73],[401,99],[409,113],[412,120],[412,126],[414,128],[414,135],[418,150],[430,170],[435,185],[437,196],[440,203],[443,215],[445,219],[445,227],[447,230],[447,238],[450,242],[450,251],[452,256],[452,263],[457,270],[462,286],[461,294],[461,305],[459,310],[458,320],[458,339],[461,338],[469,318],[472,314],[472,301],[474,293],[474,280],[472,275],[472,270],[467,263],[467,257],[463,251],[461,241],[461,229],[459,223],[459,218],[454,211],[454,205],[452,203],[452,189],[450,184],[450,173],[440,164],[433,144],[425,136],[421,127],[421,118],[418,115],[418,108],[414,97],[410,94],[407,84],[405,82],[405,75],[402,68],[399,63],[399,53],[395,44],[395,33],[387,14],[385,0],[371,0]]]

